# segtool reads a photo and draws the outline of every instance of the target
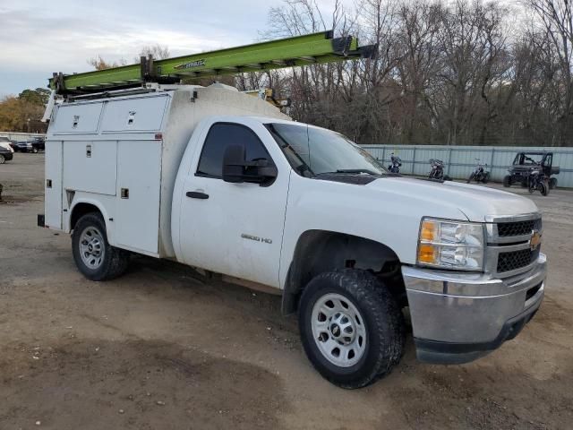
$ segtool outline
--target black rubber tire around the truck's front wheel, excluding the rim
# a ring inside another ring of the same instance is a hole
[[[354,366],[331,363],[312,335],[313,306],[328,294],[345,297],[363,317],[366,345]],[[312,366],[339,387],[355,389],[374,383],[389,374],[402,357],[404,317],[389,289],[367,271],[345,269],[316,276],[304,288],[298,321],[304,351]]]

